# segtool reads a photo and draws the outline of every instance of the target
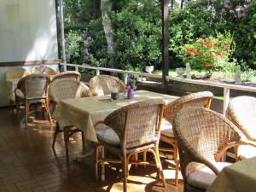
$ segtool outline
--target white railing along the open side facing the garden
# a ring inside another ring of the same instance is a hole
[[[90,67],[90,66],[81,66],[81,65],[77,65],[77,64],[67,64],[67,63],[61,63],[61,66],[64,67],[64,71],[67,71],[67,66],[74,67],[75,71],[79,71],[79,68],[96,70],[96,75],[100,75],[101,71],[123,73],[124,77],[125,77],[125,79],[124,79],[125,84],[127,84],[127,79],[128,79],[129,73],[137,74],[137,75],[143,76],[143,77],[162,79],[161,75],[133,72],[133,71],[125,71],[125,70],[113,69],[113,68]],[[201,85],[223,88],[224,89],[224,106],[223,106],[224,115],[226,114],[226,111],[227,111],[227,108],[228,108],[229,102],[230,102],[230,90],[244,90],[244,91],[249,91],[249,92],[256,92],[256,87],[245,86],[245,85],[241,85],[241,84],[225,84],[225,83],[219,83],[219,82],[213,82],[213,81],[207,81],[207,80],[175,78],[175,77],[171,77],[171,76],[166,76],[166,80],[167,81],[168,80],[178,81],[178,82],[183,82],[183,83],[188,83],[188,84],[201,84]]]

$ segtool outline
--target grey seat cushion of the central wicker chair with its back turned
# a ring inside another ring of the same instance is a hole
[[[99,125],[96,128],[96,136],[99,141],[109,145],[120,145],[118,135],[107,125]]]

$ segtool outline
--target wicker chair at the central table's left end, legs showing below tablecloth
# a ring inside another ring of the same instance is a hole
[[[92,96],[90,89],[83,83],[76,81],[75,79],[56,79],[49,84],[49,97],[54,105],[58,104],[64,99],[75,99],[79,97]],[[59,132],[64,132],[64,141],[66,148],[67,165],[69,165],[68,155],[68,140],[69,137],[75,132],[81,132],[84,147],[84,133],[73,126],[67,126],[61,130],[58,123],[56,123],[55,135],[52,143],[52,148],[55,150],[55,140]]]

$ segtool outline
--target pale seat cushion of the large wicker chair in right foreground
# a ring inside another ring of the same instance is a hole
[[[213,162],[212,164],[218,168],[218,171],[221,171],[225,166],[231,165],[231,163],[227,162]],[[189,185],[192,185],[195,188],[207,190],[216,177],[217,176],[210,168],[203,166],[201,169],[191,172],[187,180]]]

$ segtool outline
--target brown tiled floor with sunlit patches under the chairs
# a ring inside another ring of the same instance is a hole
[[[73,162],[82,154],[80,137],[70,141],[71,164],[67,167],[63,137],[58,137],[54,153],[52,136],[53,129],[47,121],[36,121],[25,129],[9,109],[0,109],[0,192],[122,191],[122,183],[110,167],[106,169],[106,181],[96,182],[93,154]],[[90,150],[90,146],[86,147]],[[165,170],[168,184],[164,189],[155,179],[154,167],[131,168],[128,191],[177,191],[170,179],[173,173]],[[183,191],[182,181],[178,191]]]

